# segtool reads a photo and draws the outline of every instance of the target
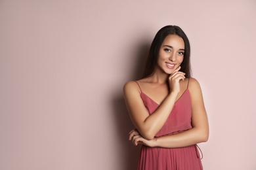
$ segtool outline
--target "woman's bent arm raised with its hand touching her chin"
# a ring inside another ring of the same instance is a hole
[[[152,114],[140,97],[140,90],[136,82],[127,82],[123,87],[125,102],[133,124],[145,139],[153,139],[169,117],[180,91],[179,81],[184,80],[184,73],[179,72],[180,67],[169,76],[170,93],[165,97],[160,107]]]

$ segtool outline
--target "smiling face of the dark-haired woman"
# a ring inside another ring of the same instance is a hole
[[[185,44],[183,39],[179,35],[167,35],[160,46],[158,67],[170,75],[181,65],[184,52]]]

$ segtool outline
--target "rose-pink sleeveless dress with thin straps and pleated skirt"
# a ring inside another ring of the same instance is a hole
[[[189,80],[188,80],[189,83]],[[139,83],[137,82],[138,86]],[[140,86],[139,86],[140,88]],[[140,97],[148,113],[152,114],[159,105],[140,89]],[[181,133],[192,128],[192,108],[188,87],[176,101],[169,118],[156,137]],[[202,170],[200,154],[196,144],[182,148],[161,148],[142,145],[139,170]]]

